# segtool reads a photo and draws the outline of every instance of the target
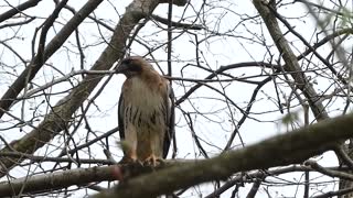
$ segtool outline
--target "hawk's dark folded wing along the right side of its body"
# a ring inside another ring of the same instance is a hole
[[[164,134],[164,142],[163,142],[163,158],[167,157],[168,151],[170,147],[171,140],[174,138],[174,125],[175,125],[175,114],[174,114],[174,92],[171,88],[170,84],[168,82],[167,86],[167,100],[164,101],[164,109],[165,110],[165,134]]]

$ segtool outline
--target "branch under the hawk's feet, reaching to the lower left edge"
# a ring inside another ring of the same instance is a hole
[[[185,161],[165,161],[163,164],[158,166],[157,169],[176,166],[181,163],[185,163]],[[41,175],[30,175],[26,177],[0,183],[0,197],[19,196],[19,194],[33,195],[67,188],[73,185],[84,186],[89,183],[118,180],[121,178],[121,175],[124,175],[124,178],[126,178],[150,172],[153,172],[151,166],[141,166],[141,164],[135,163],[115,166],[75,168]]]

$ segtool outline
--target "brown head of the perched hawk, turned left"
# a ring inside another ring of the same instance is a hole
[[[146,69],[153,69],[153,67],[140,56],[130,56],[122,59],[117,68],[117,74],[124,74],[130,78],[140,75]]]

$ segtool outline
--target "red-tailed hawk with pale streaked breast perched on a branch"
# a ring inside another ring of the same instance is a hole
[[[174,133],[173,91],[146,59],[125,58],[117,68],[125,80],[119,99],[119,133],[127,143],[124,162],[156,165],[165,158]]]

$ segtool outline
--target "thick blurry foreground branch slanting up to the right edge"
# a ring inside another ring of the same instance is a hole
[[[341,141],[351,138],[352,122],[353,114],[325,120],[211,160],[184,163],[131,178],[114,190],[95,197],[158,196],[205,182],[225,179],[237,172],[302,163],[310,156],[332,150]]]

